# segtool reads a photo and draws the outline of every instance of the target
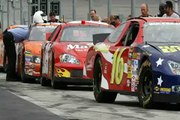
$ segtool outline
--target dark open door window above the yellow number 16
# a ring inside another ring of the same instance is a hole
[[[130,46],[135,41],[138,31],[139,31],[139,24],[137,22],[132,23],[122,39],[122,45]]]

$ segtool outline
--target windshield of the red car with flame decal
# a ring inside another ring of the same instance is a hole
[[[73,26],[67,27],[62,33],[60,41],[72,42],[92,42],[93,34],[111,33],[114,29],[110,27],[99,26]]]

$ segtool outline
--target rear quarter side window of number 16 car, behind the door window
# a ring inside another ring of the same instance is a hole
[[[115,31],[113,31],[113,33],[111,33],[108,36],[108,40],[112,43],[115,43],[118,41],[119,36],[121,35],[123,29],[125,28],[126,23],[121,24],[118,28],[116,28]]]

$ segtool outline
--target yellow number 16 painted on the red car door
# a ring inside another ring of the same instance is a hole
[[[121,57],[125,48],[119,51],[117,49],[113,55],[113,65],[112,65],[112,73],[111,73],[111,84],[119,85],[123,78],[124,71],[124,59]]]

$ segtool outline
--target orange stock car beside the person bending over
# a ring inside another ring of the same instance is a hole
[[[39,80],[41,46],[60,23],[40,23],[30,26],[29,37],[16,43],[16,71],[22,82]]]

